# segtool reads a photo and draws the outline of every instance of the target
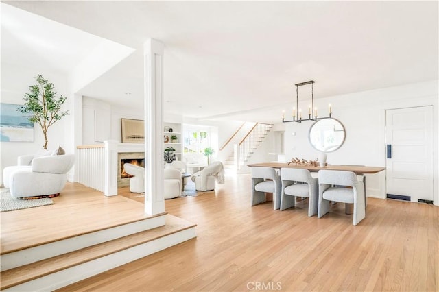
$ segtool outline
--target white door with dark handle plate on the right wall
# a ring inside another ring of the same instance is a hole
[[[433,107],[385,112],[387,194],[433,200]]]

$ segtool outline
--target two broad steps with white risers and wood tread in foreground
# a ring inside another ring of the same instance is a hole
[[[195,224],[163,213],[2,252],[0,290],[53,291],[195,236]]]

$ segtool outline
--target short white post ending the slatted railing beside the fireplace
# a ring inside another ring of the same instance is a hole
[[[104,141],[105,186],[104,195],[117,195],[117,141]]]

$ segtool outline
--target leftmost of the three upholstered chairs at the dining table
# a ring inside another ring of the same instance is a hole
[[[273,208],[281,207],[281,177],[272,167],[252,167],[252,206],[266,201],[265,193],[273,193]]]

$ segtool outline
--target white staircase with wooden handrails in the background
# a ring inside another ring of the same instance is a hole
[[[272,127],[273,125],[271,124],[256,123],[239,144],[235,145],[233,153],[224,161],[224,168],[232,169],[233,171],[241,170],[258,146],[261,145]]]

